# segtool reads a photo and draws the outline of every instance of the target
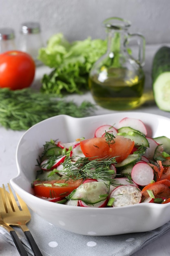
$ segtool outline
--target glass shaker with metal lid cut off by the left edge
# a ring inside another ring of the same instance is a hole
[[[0,29],[0,53],[16,50],[15,32],[11,28]]]

